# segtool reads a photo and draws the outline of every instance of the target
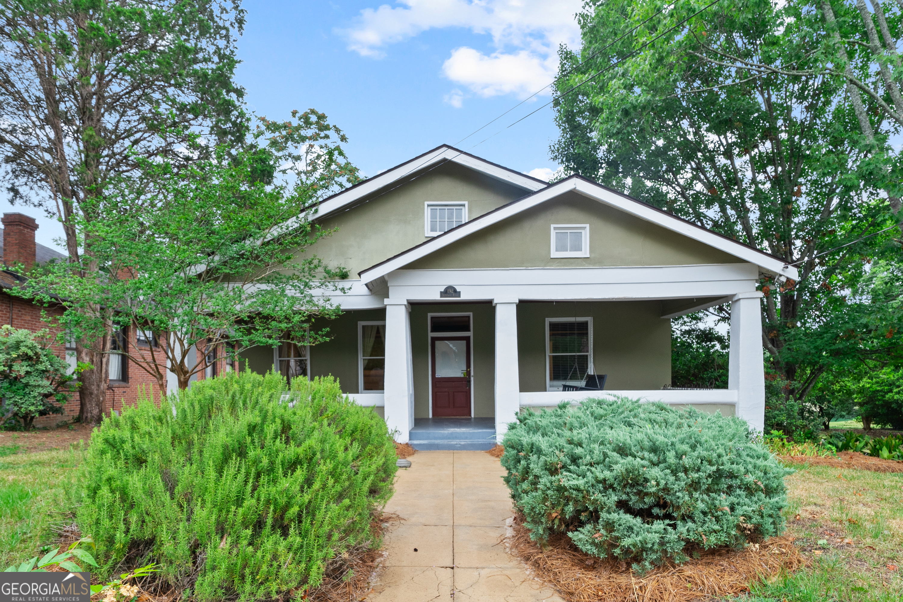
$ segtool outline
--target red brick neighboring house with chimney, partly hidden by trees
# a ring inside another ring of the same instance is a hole
[[[19,281],[14,273],[7,268],[16,263],[33,265],[35,263],[45,264],[53,260],[64,261],[66,255],[35,242],[34,232],[38,229],[38,224],[34,218],[22,213],[5,213],[0,222],[3,224],[3,228],[0,229],[0,248],[3,249],[3,255],[0,255],[0,268],[2,268],[0,270],[0,326],[9,324],[16,329],[29,329],[32,331],[49,329],[53,334],[59,333],[61,330],[59,325],[54,321],[48,323],[42,320],[42,312],[53,319],[62,314],[62,307],[60,305],[43,307],[40,304],[9,294],[9,289],[15,287]],[[120,349],[125,348],[132,351],[149,350],[148,341],[144,340],[143,337],[139,341],[139,333],[135,333],[133,330],[126,327],[118,332],[116,346]],[[162,340],[155,342],[155,345],[165,345],[165,338],[162,336],[160,338]],[[73,369],[75,368],[74,343],[67,343],[65,346],[54,345],[52,348],[57,356],[65,357],[70,366]],[[201,351],[196,351],[196,355],[197,361],[203,360]],[[192,377],[191,380],[203,380],[205,377],[209,378],[230,368],[231,366],[226,366],[224,360],[220,360],[217,362],[217,366],[209,366],[196,377]],[[108,414],[111,410],[119,411],[124,405],[137,403],[138,395],[142,389],[144,391],[153,391],[154,400],[159,402],[160,390],[156,384],[156,379],[127,357],[112,355],[109,372],[110,379],[107,384],[105,414]],[[167,388],[172,391],[175,388],[175,384],[172,376],[169,376]],[[42,416],[36,419],[34,424],[38,427],[56,426],[72,421],[78,415],[79,394],[77,393],[64,406],[64,413]]]

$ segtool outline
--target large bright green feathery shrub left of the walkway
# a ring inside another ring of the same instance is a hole
[[[279,375],[228,374],[105,419],[77,515],[101,575],[155,562],[184,597],[275,598],[373,543],[396,472],[386,423],[331,377],[292,392]]]

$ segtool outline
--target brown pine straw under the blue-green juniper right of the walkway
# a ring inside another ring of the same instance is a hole
[[[691,602],[736,596],[749,591],[750,581],[808,564],[794,538],[785,535],[743,550],[700,551],[699,559],[679,566],[668,563],[639,575],[627,562],[600,560],[580,551],[563,534],[554,536],[543,550],[530,539],[521,519],[517,515],[513,521],[509,550],[568,602]]]

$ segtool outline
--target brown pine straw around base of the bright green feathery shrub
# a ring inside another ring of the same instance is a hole
[[[373,542],[382,539],[383,533],[386,533],[390,523],[397,523],[401,520],[403,519],[400,516],[393,513],[381,513],[375,516],[370,523],[370,530],[374,535]],[[70,543],[78,541],[80,537],[81,533],[75,523],[68,523],[57,530],[56,543],[65,550]],[[359,545],[345,551],[327,562],[320,586],[302,592],[299,599],[310,602],[359,602],[359,600],[366,599],[373,589],[373,579],[377,569],[385,558],[386,551],[380,550],[378,546]],[[68,572],[58,566],[48,567],[47,570]],[[92,579],[92,581],[97,581],[97,579]],[[134,602],[175,602],[182,598],[181,591],[172,588],[163,579],[155,579],[154,575],[135,581],[130,585],[138,588],[137,598]],[[293,597],[296,593],[297,591],[293,590],[287,594],[289,597]],[[92,602],[101,602],[103,599],[104,596],[99,593],[91,596]]]

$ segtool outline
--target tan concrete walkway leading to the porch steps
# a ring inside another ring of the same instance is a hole
[[[399,469],[386,512],[388,556],[370,602],[563,602],[505,551],[514,513],[498,459],[482,451],[419,451]]]

